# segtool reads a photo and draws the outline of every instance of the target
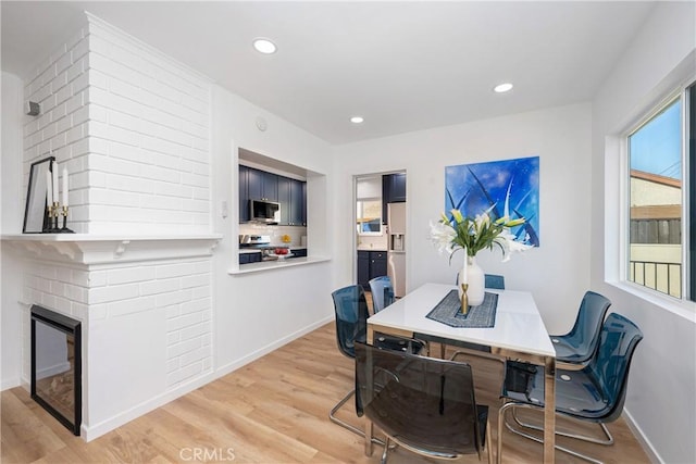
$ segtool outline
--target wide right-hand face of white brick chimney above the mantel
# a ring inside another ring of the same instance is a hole
[[[84,231],[208,233],[209,79],[88,17]]]

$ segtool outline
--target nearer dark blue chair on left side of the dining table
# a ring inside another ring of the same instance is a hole
[[[334,291],[332,298],[334,300],[336,314],[336,341],[338,348],[344,355],[355,359],[356,342],[364,342],[368,337],[368,317],[370,314],[365,293],[362,290],[362,286],[350,285]],[[378,335],[374,341],[375,344],[385,349],[411,353],[419,353],[424,348],[424,343],[419,340],[394,336]],[[364,437],[364,432],[358,427],[336,417],[338,410],[343,407],[355,393],[355,389],[349,391],[348,394],[331,410],[328,418],[333,423]]]

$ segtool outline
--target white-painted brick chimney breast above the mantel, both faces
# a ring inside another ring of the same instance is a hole
[[[50,154],[71,173],[70,227],[85,234],[210,230],[210,83],[88,15],[38,66],[25,98],[25,187]]]

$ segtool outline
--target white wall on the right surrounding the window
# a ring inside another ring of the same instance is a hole
[[[646,297],[621,284],[619,136],[696,74],[696,4],[658,2],[593,101],[592,286],[643,330],[625,412],[656,461],[696,461],[696,305]],[[691,54],[689,54],[691,53]],[[692,276],[693,278],[693,276]]]

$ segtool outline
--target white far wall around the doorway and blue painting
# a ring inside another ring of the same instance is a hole
[[[407,171],[407,288],[414,289],[453,283],[463,263],[460,253],[449,266],[428,239],[428,223],[445,208],[445,166],[538,155],[540,247],[507,263],[497,251],[477,261],[504,274],[508,288],[532,290],[549,330],[569,329],[589,283],[589,104],[576,104],[337,147],[337,283],[355,275],[352,176]]]

